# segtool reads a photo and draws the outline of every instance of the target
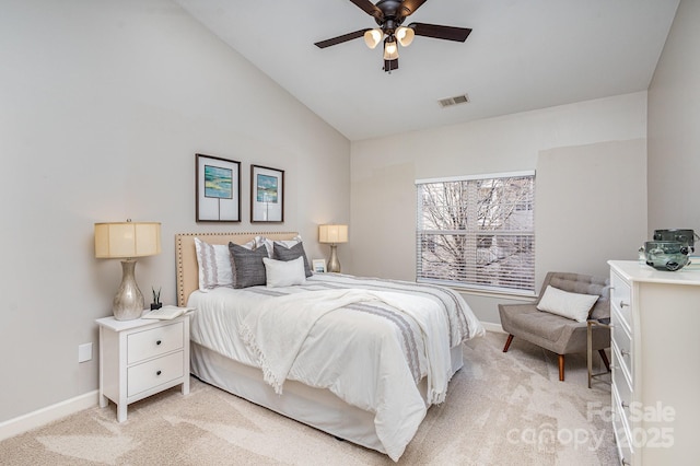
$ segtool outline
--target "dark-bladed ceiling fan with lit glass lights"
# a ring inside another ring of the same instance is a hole
[[[402,26],[404,20],[415,13],[427,0],[380,0],[376,4],[370,0],[350,0],[364,10],[380,27],[364,28],[338,37],[315,43],[318,48],[330,47],[359,37],[370,48],[375,48],[384,39],[384,71],[398,69],[398,44],[408,47],[413,36],[433,37],[446,40],[465,42],[471,33],[466,27],[442,26],[439,24],[410,23]]]

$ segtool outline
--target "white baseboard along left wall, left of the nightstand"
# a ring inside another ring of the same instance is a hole
[[[93,391],[14,419],[0,422],[0,441],[42,427],[73,412],[97,406],[100,392]]]

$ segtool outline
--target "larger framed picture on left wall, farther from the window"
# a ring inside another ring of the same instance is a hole
[[[195,220],[241,221],[241,162],[195,154]]]

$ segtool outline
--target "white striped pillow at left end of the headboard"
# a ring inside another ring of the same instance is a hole
[[[253,249],[255,244],[254,240],[242,246]],[[217,287],[233,288],[234,268],[229,245],[209,244],[195,237],[195,249],[199,266],[199,291],[206,293]]]

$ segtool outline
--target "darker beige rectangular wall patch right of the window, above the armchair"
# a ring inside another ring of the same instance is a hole
[[[646,232],[646,141],[541,151],[537,159],[537,281],[548,271],[606,277],[634,259]]]

